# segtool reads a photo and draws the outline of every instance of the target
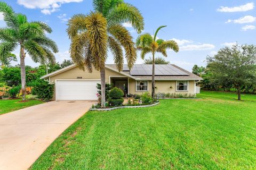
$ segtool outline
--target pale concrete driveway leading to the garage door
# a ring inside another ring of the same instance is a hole
[[[27,169],[95,101],[51,101],[0,115],[0,169]]]

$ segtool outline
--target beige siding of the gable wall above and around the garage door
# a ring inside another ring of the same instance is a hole
[[[121,77],[123,76],[123,74],[119,74],[109,69],[106,69],[105,71],[106,71],[105,75],[106,75],[107,83],[109,83],[110,76],[121,76]],[[77,77],[82,77],[82,79],[77,79]],[[89,73],[86,70],[85,71],[80,70],[79,67],[74,67],[73,69],[54,75],[53,77],[50,77],[51,84],[54,84],[55,80],[100,80],[100,72],[97,70],[93,70],[92,73]],[[55,88],[54,88],[52,100],[55,100]],[[71,88],[72,87],[70,87],[70,89]]]

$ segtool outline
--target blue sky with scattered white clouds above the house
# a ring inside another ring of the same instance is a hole
[[[66,29],[67,20],[74,14],[87,14],[91,10],[92,0],[9,0],[15,12],[26,14],[30,21],[43,21],[50,25],[52,38],[59,47],[55,55],[58,62],[69,59],[70,40]],[[215,0],[126,0],[136,6],[145,19],[145,31],[153,35],[159,25],[167,25],[159,31],[158,37],[174,39],[180,46],[180,52],[169,51],[165,58],[172,64],[191,70],[194,64],[205,65],[205,57],[214,55],[220,48],[239,44],[256,44],[256,1],[215,1]],[[4,22],[0,17],[0,25]],[[131,31],[134,40],[138,34]],[[19,54],[18,49],[15,54]],[[148,55],[147,57],[149,57]],[[161,56],[157,54],[156,56]],[[29,57],[26,65],[37,66]],[[138,52],[137,64],[143,61]],[[107,64],[113,63],[113,56],[108,54]],[[13,65],[18,62],[13,63]]]

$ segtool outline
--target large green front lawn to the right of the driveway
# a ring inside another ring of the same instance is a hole
[[[256,95],[87,112],[31,169],[255,169]]]

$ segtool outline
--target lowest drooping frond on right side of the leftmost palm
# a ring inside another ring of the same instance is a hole
[[[46,52],[42,46],[37,44],[33,40],[26,41],[24,47],[27,50],[29,56],[35,63],[45,64],[46,61]]]

